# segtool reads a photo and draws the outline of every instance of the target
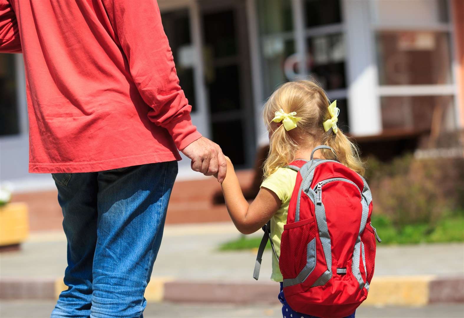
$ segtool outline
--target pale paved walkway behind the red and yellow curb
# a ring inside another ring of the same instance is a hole
[[[254,235],[261,235],[260,232]],[[188,280],[254,282],[255,253],[219,252],[221,242],[239,236],[232,223],[168,225],[153,276]],[[375,276],[464,276],[464,244],[382,246],[378,244]],[[20,251],[0,254],[0,277],[61,277],[66,267],[66,240],[61,231],[34,233]],[[271,275],[266,251],[260,281]]]

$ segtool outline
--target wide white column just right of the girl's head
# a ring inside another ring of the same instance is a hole
[[[342,1],[348,64],[348,119],[354,136],[382,131],[370,2]]]

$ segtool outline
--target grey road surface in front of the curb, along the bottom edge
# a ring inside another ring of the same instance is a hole
[[[1,318],[45,318],[50,317],[53,301],[37,300],[2,300],[0,302]],[[181,318],[181,317],[282,317],[279,305],[222,305],[222,304],[179,304],[149,303],[143,316]],[[464,304],[440,304],[423,307],[368,307],[361,306],[356,311],[356,318],[462,318]]]

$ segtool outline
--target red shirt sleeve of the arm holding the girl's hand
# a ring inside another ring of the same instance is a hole
[[[180,150],[201,137],[190,118],[188,104],[175,70],[168,38],[155,0],[103,0],[116,41],[143,100],[148,118],[168,129]]]

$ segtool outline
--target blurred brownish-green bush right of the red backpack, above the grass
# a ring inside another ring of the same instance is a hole
[[[422,224],[432,233],[440,220],[451,216],[449,211],[464,209],[462,158],[415,159],[408,154],[390,163],[367,163],[374,215],[386,216],[397,230]]]

